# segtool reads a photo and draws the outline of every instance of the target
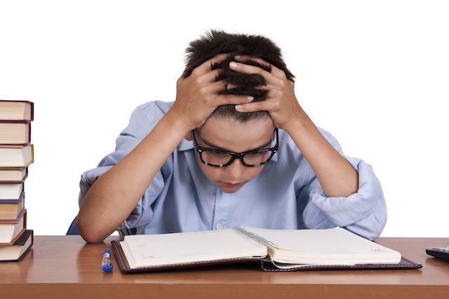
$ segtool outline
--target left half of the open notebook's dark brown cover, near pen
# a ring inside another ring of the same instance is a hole
[[[135,272],[149,272],[157,270],[170,270],[170,269],[182,269],[188,267],[203,267],[208,265],[223,265],[223,264],[234,264],[234,263],[248,263],[248,262],[260,262],[261,258],[231,258],[225,260],[211,260],[208,262],[195,262],[195,263],[180,263],[175,265],[161,265],[154,267],[140,267],[131,269],[128,260],[126,260],[125,253],[121,249],[121,244],[119,241],[111,241],[112,249],[116,256],[117,263],[119,263],[120,269],[125,273],[135,273]]]

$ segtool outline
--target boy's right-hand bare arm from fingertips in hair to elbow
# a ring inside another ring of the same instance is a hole
[[[239,59],[236,57],[237,61]],[[267,63],[263,60],[255,60]],[[358,173],[323,137],[302,110],[295,97],[295,86],[293,82],[288,81],[283,71],[272,67],[272,72],[269,73],[239,62],[234,64],[231,62],[229,67],[244,74],[262,74],[267,81],[267,86],[260,87],[268,90],[267,99],[262,102],[237,105],[237,111],[268,111],[274,125],[288,132],[307,159],[328,197],[347,197],[357,192]]]

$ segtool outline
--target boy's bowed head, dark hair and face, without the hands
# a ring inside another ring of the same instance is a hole
[[[192,41],[186,51],[187,67],[182,75],[184,78],[190,76],[196,67],[216,55],[229,53],[226,60],[210,66],[211,69],[220,69],[216,81],[223,80],[236,86],[231,90],[225,88],[220,91],[222,95],[251,95],[255,102],[264,101],[267,96],[265,90],[257,89],[261,85],[266,85],[264,76],[241,74],[229,69],[229,62],[233,61],[236,55],[261,58],[284,71],[288,80],[293,81],[294,78],[282,60],[281,50],[264,36],[211,31],[201,39]],[[260,64],[255,60],[246,60],[243,63],[255,65],[265,71],[272,70],[270,65]],[[243,162],[256,164],[254,161],[272,158],[276,151],[267,151],[267,148],[272,148],[275,140],[279,141],[275,132],[273,120],[267,111],[240,113],[236,111],[235,105],[223,105],[218,106],[201,127],[194,130],[192,134],[187,134],[186,139],[192,140],[193,137],[195,139],[195,155],[203,174],[223,192],[234,193],[246,183],[253,181],[265,165],[250,167]],[[235,157],[242,157],[241,153],[250,152],[251,154],[246,154],[248,160],[235,158],[229,160],[230,164],[222,167],[207,164],[210,160],[206,158],[206,153],[209,156],[212,155],[213,161],[231,158],[229,153],[223,153],[223,151],[237,153]]]

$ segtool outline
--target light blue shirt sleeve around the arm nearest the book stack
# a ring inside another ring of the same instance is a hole
[[[109,153],[109,155],[103,158],[97,168],[88,170],[81,174],[79,204],[81,204],[84,196],[93,183],[95,183],[95,181],[102,176],[102,174],[107,172],[114,165],[116,165],[117,162],[128,155],[128,153],[130,153],[130,151],[132,151],[133,148],[135,148],[135,146],[137,146],[140,141],[147,136],[153,127],[154,123],[149,120],[146,113],[144,113],[142,109],[138,108],[133,111],[130,116],[128,127],[121,132],[116,140],[115,151],[113,153]],[[130,216],[117,229],[137,228],[140,225],[148,223],[153,215],[153,211],[149,207],[152,207],[152,204],[161,193],[163,185],[163,176],[161,171],[159,171],[154,177],[152,183],[149,185],[149,188],[145,191],[141,200],[131,212]],[[120,209],[120,207],[117,207],[117,209]]]

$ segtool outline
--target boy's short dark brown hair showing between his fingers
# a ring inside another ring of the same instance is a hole
[[[217,76],[216,81],[223,80],[236,86],[236,88],[230,90],[224,89],[220,91],[221,95],[251,95],[254,97],[253,102],[263,101],[267,96],[265,90],[257,89],[257,86],[266,85],[264,76],[260,74],[241,74],[229,69],[229,62],[234,61],[236,55],[262,58],[262,60],[284,71],[288,80],[294,81],[295,78],[282,60],[281,49],[273,41],[260,35],[228,34],[212,30],[205,36],[201,36],[200,39],[189,43],[186,53],[187,66],[184,74],[182,74],[184,78],[190,76],[196,67],[210,60],[210,58],[221,53],[229,53],[229,57],[226,60],[220,64],[210,66],[211,69],[220,69],[220,74]],[[260,64],[255,60],[246,60],[243,63],[255,65],[265,71],[272,70],[271,66]],[[232,118],[242,123],[255,118],[269,117],[267,111],[240,113],[234,107],[235,105],[219,106],[212,116]]]

